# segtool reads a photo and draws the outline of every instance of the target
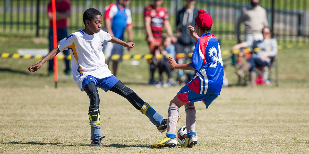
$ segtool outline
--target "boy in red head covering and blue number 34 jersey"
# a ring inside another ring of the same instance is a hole
[[[210,34],[212,18],[204,10],[199,10],[193,26],[188,26],[189,34],[196,40],[192,63],[177,64],[170,57],[168,64],[174,69],[195,70],[195,76],[180,89],[168,108],[166,137],[152,145],[153,148],[175,147],[176,120],[179,107],[184,105],[186,111],[187,138],[182,147],[193,147],[197,143],[195,133],[194,102],[203,101],[206,108],[220,95],[223,84],[223,63],[218,40]]]

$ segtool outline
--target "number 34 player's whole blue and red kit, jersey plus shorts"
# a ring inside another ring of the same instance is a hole
[[[223,84],[223,63],[217,38],[204,33],[195,44],[190,65],[195,69],[193,79],[177,93],[185,103],[202,100],[206,107],[220,95]]]

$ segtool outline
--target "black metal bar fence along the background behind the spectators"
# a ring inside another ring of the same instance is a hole
[[[49,21],[47,4],[49,0],[0,0],[0,34],[23,33],[47,37]],[[104,13],[105,6],[117,0],[70,0],[71,17],[69,32],[82,29],[83,11],[93,7]],[[131,0],[133,33],[143,37],[145,28],[143,10],[152,0]],[[175,16],[185,0],[164,0],[170,22],[175,29]],[[196,7],[206,10],[213,20],[212,33],[221,39],[236,39],[235,25],[243,7],[250,6],[250,0],[197,0]],[[309,39],[308,0],[260,0],[260,6],[267,10],[267,18],[273,36],[283,41],[307,41]],[[242,26],[243,27],[243,26]],[[244,28],[241,28],[243,32]]]

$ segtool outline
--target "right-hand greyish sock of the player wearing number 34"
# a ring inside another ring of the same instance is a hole
[[[184,107],[186,111],[186,124],[187,124],[187,133],[195,132],[195,107],[193,104]]]

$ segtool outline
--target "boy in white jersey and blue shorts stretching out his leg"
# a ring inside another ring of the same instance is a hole
[[[136,109],[145,114],[160,132],[164,132],[167,120],[163,119],[162,115],[139,98],[133,90],[123,85],[119,79],[112,75],[107,64],[105,64],[105,57],[102,52],[104,40],[129,49],[133,49],[135,44],[133,42],[126,43],[101,30],[102,14],[94,8],[87,9],[84,12],[83,21],[85,29],[78,30],[78,32],[62,39],[57,48],[46,55],[40,63],[29,67],[28,70],[35,72],[43,63],[53,58],[60,51],[72,49],[73,78],[79,89],[86,91],[90,99],[88,113],[92,140],[90,146],[100,146],[102,138],[105,137],[101,137],[99,94],[96,87],[102,88],[104,91],[113,91],[125,97]]]

